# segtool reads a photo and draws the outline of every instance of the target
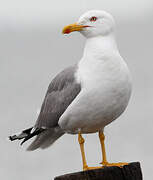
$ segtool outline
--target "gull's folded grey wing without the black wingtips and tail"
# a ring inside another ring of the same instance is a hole
[[[76,70],[76,65],[66,68],[52,80],[35,124],[36,128],[58,126],[59,118],[81,91],[81,85],[75,80]]]

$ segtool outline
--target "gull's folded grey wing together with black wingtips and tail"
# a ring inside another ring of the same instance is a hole
[[[23,139],[24,143],[33,136],[37,136],[27,150],[47,148],[53,144],[64,132],[58,126],[58,121],[67,107],[81,91],[81,86],[75,80],[77,66],[71,66],[59,73],[50,83],[40,114],[34,126],[34,131],[28,131],[25,136],[10,136]],[[42,131],[43,129],[43,131]]]

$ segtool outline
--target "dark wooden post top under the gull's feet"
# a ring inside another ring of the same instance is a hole
[[[54,180],[142,180],[139,162],[120,167],[104,167],[55,177]]]

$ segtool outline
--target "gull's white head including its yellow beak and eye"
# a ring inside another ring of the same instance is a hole
[[[90,10],[83,14],[79,20],[63,29],[64,34],[79,31],[85,37],[106,36],[114,31],[114,18],[105,11]]]

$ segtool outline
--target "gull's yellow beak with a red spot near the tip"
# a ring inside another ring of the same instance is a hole
[[[82,31],[84,28],[89,27],[89,26],[84,26],[84,25],[78,25],[77,23],[70,24],[68,26],[65,26],[63,28],[62,33],[63,34],[69,34],[73,31]]]

